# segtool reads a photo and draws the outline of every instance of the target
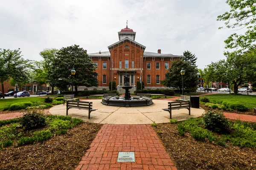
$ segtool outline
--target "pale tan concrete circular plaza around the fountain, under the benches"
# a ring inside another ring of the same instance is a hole
[[[102,105],[101,99],[88,99],[87,101],[93,102],[93,108],[98,109],[90,113],[90,119],[88,119],[88,111],[82,109],[71,108],[68,115],[83,119],[84,122],[101,124],[138,125],[170,122],[169,112],[162,110],[168,108],[169,100],[153,100],[154,104],[150,106],[128,108]],[[49,112],[52,115],[66,115],[66,105],[56,105],[50,108]],[[191,117],[199,117],[203,113],[202,108],[191,108],[190,116],[188,109],[173,110],[172,119],[182,121]]]

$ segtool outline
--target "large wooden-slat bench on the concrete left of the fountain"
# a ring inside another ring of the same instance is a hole
[[[70,108],[76,109],[84,109],[88,110],[88,119],[90,119],[90,113],[92,111],[96,111],[97,109],[93,109],[93,102],[85,102],[85,101],[76,101],[76,100],[67,100],[67,112]],[[67,115],[67,113],[66,113]]]

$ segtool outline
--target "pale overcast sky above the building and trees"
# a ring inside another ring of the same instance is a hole
[[[224,40],[234,33],[217,21],[226,0],[0,0],[0,48],[20,48],[40,60],[44,48],[73,44],[87,53],[108,51],[128,27],[145,51],[198,57],[198,68],[225,59]]]

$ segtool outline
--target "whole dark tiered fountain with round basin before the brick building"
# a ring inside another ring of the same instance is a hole
[[[120,86],[121,88],[125,89],[125,97],[123,96],[111,96],[111,97],[104,97],[102,98],[103,105],[110,105],[110,106],[122,106],[122,107],[134,107],[134,106],[149,106],[152,105],[152,99],[150,97],[140,97],[134,96],[131,97],[129,89],[133,88],[129,82],[129,75],[126,72],[124,76],[124,86]]]

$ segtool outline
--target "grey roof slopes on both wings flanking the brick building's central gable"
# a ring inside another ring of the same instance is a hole
[[[91,53],[88,55],[89,55],[89,57],[110,57],[110,52],[104,51],[101,53]],[[152,53],[152,52],[144,51],[143,57],[184,57],[184,56],[177,56],[177,55],[173,55],[173,54],[159,54],[159,53]]]

